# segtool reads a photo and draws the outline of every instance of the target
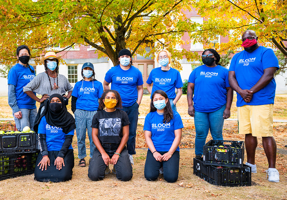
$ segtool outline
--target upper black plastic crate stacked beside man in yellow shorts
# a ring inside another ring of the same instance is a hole
[[[244,141],[209,140],[203,146],[203,161],[209,165],[242,167]]]

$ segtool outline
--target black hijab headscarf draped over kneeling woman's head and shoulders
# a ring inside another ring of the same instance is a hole
[[[53,97],[59,98],[62,103],[62,108],[59,112],[53,112],[49,106],[51,99]],[[59,94],[53,94],[49,97],[49,100],[45,105],[45,109],[43,113],[41,114],[40,118],[34,125],[35,132],[38,132],[38,126],[43,116],[45,116],[47,124],[49,124],[50,126],[56,126],[56,127],[62,128],[65,134],[69,133],[72,129],[76,128],[75,119],[67,111],[67,107],[64,104],[64,99]]]

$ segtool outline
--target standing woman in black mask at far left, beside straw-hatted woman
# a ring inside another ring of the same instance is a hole
[[[23,87],[35,77],[34,68],[28,64],[30,49],[26,45],[19,46],[16,57],[19,62],[8,73],[8,103],[18,131],[26,126],[33,130],[37,115],[36,101],[23,92]]]

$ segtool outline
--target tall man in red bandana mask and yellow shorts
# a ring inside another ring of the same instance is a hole
[[[229,84],[237,92],[237,117],[239,134],[245,134],[247,165],[256,172],[255,151],[257,137],[262,137],[268,160],[268,180],[279,182],[275,168],[276,142],[273,137],[273,104],[278,59],[272,49],[258,45],[255,31],[242,34],[244,51],[234,55],[229,68]]]

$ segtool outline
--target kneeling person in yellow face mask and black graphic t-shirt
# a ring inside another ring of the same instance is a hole
[[[89,164],[88,177],[91,180],[102,180],[109,173],[109,164],[114,165],[113,173],[121,181],[129,181],[133,177],[126,147],[129,138],[129,118],[120,110],[122,99],[119,92],[105,90],[99,101],[98,111],[92,120],[92,138],[96,148]],[[107,170],[108,169],[108,172]]]

